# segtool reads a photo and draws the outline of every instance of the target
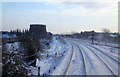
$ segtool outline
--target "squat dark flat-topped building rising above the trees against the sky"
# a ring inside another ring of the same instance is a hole
[[[43,24],[31,24],[29,31],[39,38],[45,38],[47,35],[46,25]]]

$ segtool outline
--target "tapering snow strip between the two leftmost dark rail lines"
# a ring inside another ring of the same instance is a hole
[[[65,75],[86,75],[84,58],[75,44],[73,46],[73,55]]]

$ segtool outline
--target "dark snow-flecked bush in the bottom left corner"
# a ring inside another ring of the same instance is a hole
[[[20,55],[3,54],[2,77],[28,77],[28,71]]]

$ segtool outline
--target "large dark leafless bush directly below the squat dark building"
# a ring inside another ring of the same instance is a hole
[[[37,57],[38,51],[42,51],[42,44],[40,40],[35,35],[30,35],[28,33],[23,34],[20,38],[20,46],[24,49],[27,61],[33,61]]]

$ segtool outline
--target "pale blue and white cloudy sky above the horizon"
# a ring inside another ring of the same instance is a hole
[[[102,31],[102,28],[118,31],[118,0],[37,1],[3,0],[2,30],[25,29],[31,23],[42,23],[52,33]]]

